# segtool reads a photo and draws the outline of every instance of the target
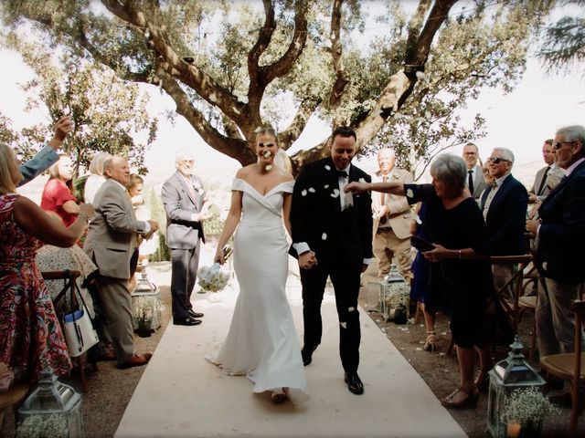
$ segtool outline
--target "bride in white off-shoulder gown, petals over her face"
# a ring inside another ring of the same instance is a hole
[[[271,401],[307,398],[301,349],[286,300],[288,248],[282,222],[291,235],[293,176],[274,164],[278,152],[271,128],[256,130],[258,162],[238,171],[231,205],[214,260],[234,238],[234,269],[239,297],[228,338],[207,360],[225,374],[246,375],[254,392],[271,391]]]

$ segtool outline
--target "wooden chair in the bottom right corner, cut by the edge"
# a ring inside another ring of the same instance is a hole
[[[585,301],[575,301],[570,305],[575,313],[575,351],[572,353],[552,354],[540,358],[540,368],[562,380],[570,381],[572,408],[570,411],[570,436],[577,436],[580,411],[580,381],[585,380],[585,352],[581,351],[582,323],[585,320]]]

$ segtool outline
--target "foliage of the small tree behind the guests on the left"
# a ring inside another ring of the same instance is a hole
[[[151,120],[146,111],[148,97],[141,95],[137,85],[123,82],[108,68],[70,50],[55,55],[37,43],[24,42],[16,33],[2,42],[16,49],[35,72],[35,78],[22,84],[28,96],[26,110],[46,108],[50,118],[50,123],[27,127],[13,137],[18,155],[30,158],[47,141],[54,122],[69,114],[74,131],[63,149],[72,155],[78,172],[80,166],[89,166],[98,151],[120,154],[139,173],[147,172],[144,152],[155,140],[157,120]],[[5,131],[1,126],[0,132]]]

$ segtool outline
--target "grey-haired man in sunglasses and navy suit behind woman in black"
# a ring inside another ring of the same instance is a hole
[[[494,186],[488,187],[481,199],[487,245],[491,255],[526,253],[524,228],[528,205],[526,187],[512,176],[514,153],[495,148],[487,159]],[[510,265],[493,265],[494,286],[499,289],[513,275]],[[512,298],[511,290],[509,291]]]

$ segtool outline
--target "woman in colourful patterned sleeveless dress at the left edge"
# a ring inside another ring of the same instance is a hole
[[[15,383],[32,383],[42,370],[65,374],[71,367],[65,339],[35,261],[44,244],[75,244],[93,214],[80,207],[66,228],[16,193],[22,179],[14,151],[0,144],[0,362],[14,371]]]

